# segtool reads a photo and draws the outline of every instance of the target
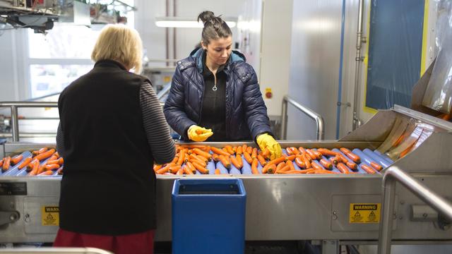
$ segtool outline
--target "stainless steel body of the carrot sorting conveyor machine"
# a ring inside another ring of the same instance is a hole
[[[367,148],[380,153],[391,165],[408,172],[432,191],[452,198],[451,131],[451,122],[396,106],[379,111],[340,140],[281,141],[280,144],[282,147]],[[203,144],[224,147],[243,143]],[[43,146],[54,144],[4,143],[0,145],[0,157]],[[174,179],[179,177],[242,179],[248,196],[246,241],[314,240],[323,245],[324,253],[338,253],[342,244],[376,244],[379,238],[382,174],[159,175],[155,241],[171,241],[171,193]],[[54,240],[59,222],[60,179],[60,176],[0,176],[1,243]],[[128,219],[127,214],[118,219]],[[201,217],[199,220],[202,223]],[[394,243],[451,244],[450,223],[405,188],[397,186]]]

